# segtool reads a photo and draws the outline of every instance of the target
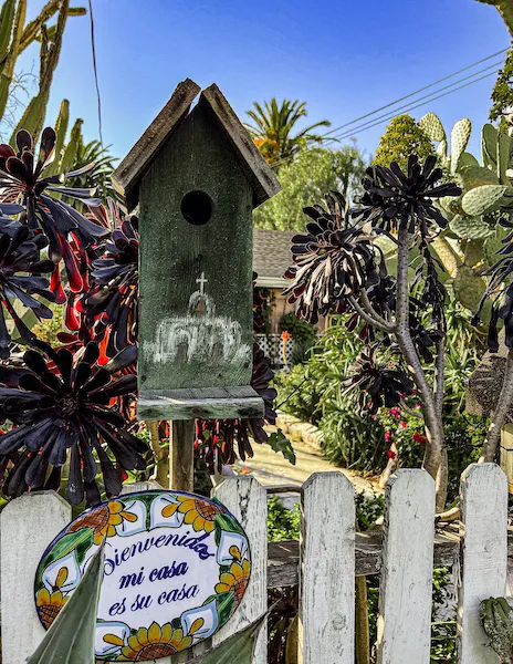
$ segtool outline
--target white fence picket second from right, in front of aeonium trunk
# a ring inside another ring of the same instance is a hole
[[[398,470],[386,494],[378,616],[379,664],[429,664],[435,483]]]

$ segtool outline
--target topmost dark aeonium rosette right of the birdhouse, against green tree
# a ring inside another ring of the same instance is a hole
[[[446,228],[447,219],[433,199],[461,196],[461,189],[453,183],[441,183],[443,172],[436,164],[436,156],[427,157],[422,165],[417,155],[410,155],[406,173],[396,162],[389,168],[367,168],[365,193],[358,199],[359,207],[352,210],[353,218],[387,234],[406,228],[411,235],[419,229],[427,236],[432,222]]]

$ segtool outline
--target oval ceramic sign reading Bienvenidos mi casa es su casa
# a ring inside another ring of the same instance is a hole
[[[222,505],[176,491],[128,494],[82,513],[43,554],[35,604],[46,629],[104,540],[97,661],[186,650],[227,623],[248,587],[248,538]]]

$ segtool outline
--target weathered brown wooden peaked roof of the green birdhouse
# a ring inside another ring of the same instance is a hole
[[[207,106],[227,141],[235,151],[241,168],[253,187],[253,205],[258,207],[281,190],[276,176],[254,145],[251,136],[237,117],[219,87],[212,83],[201,91],[186,79],[179,83],[170,100],[140,136],[114,172],[113,185],[122,201],[133,209],[138,201],[138,186],[172,132],[189,114],[192,102],[200,94],[198,106]]]

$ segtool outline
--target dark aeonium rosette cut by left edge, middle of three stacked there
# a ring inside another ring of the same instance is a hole
[[[9,229],[9,231],[11,228]],[[9,357],[9,333],[6,312],[12,318],[14,326],[24,343],[31,343],[33,333],[25,325],[13,302],[32,310],[38,319],[51,319],[52,310],[34,295],[53,301],[50,280],[42,277],[51,273],[54,264],[51,260],[40,260],[40,251],[46,245],[44,236],[34,236],[21,225],[12,234],[0,230],[0,357]]]

